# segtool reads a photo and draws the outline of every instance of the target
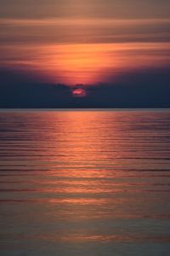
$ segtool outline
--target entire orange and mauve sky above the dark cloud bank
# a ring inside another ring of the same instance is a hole
[[[63,84],[170,67],[169,0],[0,0],[0,67]]]

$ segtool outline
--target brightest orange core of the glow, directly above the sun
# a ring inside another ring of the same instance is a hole
[[[54,52],[51,62],[68,84],[93,84],[99,70],[111,64],[102,45],[59,45]]]

